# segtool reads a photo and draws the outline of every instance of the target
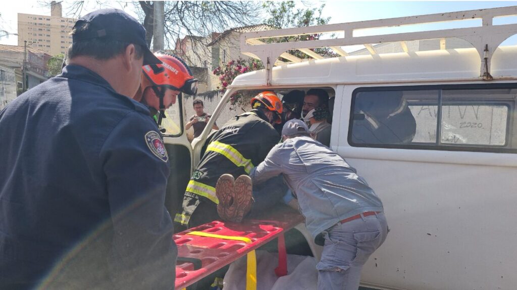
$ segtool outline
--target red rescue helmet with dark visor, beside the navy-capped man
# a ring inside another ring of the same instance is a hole
[[[189,95],[197,93],[197,79],[183,59],[172,54],[155,53],[162,61],[159,65],[143,66],[144,75],[151,85],[184,92]]]

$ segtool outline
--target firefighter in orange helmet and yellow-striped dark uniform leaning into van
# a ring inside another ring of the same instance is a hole
[[[282,103],[278,96],[261,92],[251,100],[251,107],[251,111],[232,118],[207,141],[205,154],[187,186],[183,211],[174,218],[176,232],[219,219],[216,183],[221,175],[248,175],[278,143],[280,137],[272,126],[281,122]]]

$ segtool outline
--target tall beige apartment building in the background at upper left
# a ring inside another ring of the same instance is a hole
[[[61,3],[51,4],[51,15],[18,13],[18,45],[31,45],[51,55],[65,54],[72,43],[76,19],[62,17]]]

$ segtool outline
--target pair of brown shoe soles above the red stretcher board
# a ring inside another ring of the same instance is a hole
[[[225,221],[242,221],[253,202],[250,176],[240,175],[234,182],[232,175],[221,175],[216,184],[216,195],[219,216]]]

